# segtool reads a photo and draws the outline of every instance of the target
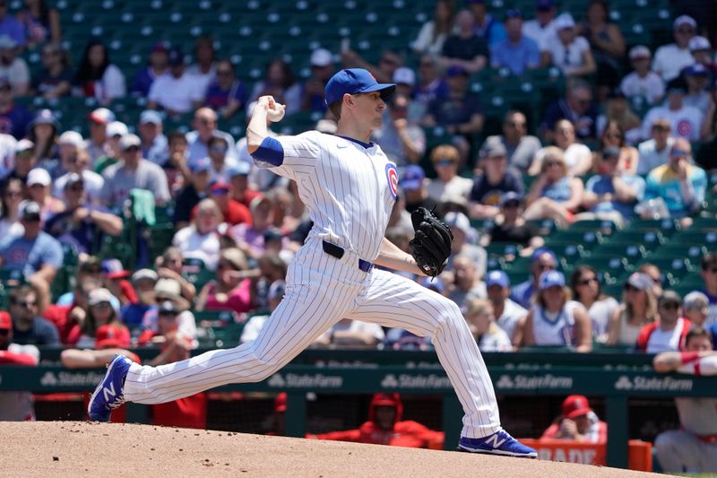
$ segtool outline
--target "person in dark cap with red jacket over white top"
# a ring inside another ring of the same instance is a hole
[[[682,298],[676,291],[664,291],[657,300],[660,318],[640,329],[635,348],[639,352],[681,352],[692,323],[682,317]]]

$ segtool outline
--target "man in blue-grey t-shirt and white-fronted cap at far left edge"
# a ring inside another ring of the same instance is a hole
[[[25,231],[22,236],[1,239],[0,265],[24,274],[38,291],[39,309],[44,310],[50,300],[50,284],[65,254],[59,241],[42,231],[40,214],[38,203],[29,201],[22,206],[20,222]]]

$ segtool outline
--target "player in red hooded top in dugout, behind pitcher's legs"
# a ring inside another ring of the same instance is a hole
[[[419,422],[402,421],[399,394],[376,394],[368,410],[368,422],[358,430],[332,431],[307,438],[355,441],[409,448],[443,448],[443,431],[429,430]]]

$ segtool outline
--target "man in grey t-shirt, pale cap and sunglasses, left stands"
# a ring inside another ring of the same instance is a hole
[[[167,175],[160,166],[143,159],[141,147],[142,140],[137,135],[124,135],[119,140],[123,161],[108,167],[102,175],[105,187],[100,197],[108,208],[124,204],[134,188],[150,191],[157,204],[168,202]]]

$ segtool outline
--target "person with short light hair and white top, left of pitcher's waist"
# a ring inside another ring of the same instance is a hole
[[[203,199],[197,204],[196,215],[191,224],[177,230],[172,245],[182,251],[186,258],[200,259],[208,269],[216,269],[219,261],[219,226],[223,216],[219,206],[212,199]]]

